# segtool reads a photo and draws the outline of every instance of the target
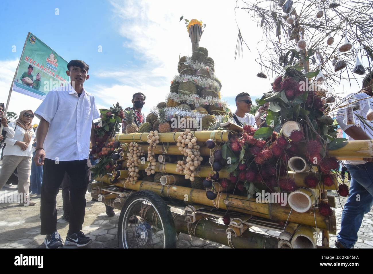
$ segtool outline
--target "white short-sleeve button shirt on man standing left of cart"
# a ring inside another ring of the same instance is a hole
[[[79,97],[69,83],[48,92],[35,115],[49,123],[43,144],[46,158],[59,161],[88,158],[92,122],[100,118],[93,95],[83,88]]]

